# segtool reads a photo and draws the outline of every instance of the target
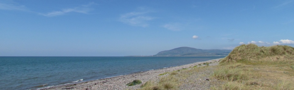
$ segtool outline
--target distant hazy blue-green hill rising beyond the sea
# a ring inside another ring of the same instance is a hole
[[[195,49],[190,47],[179,47],[167,51],[158,52],[154,56],[227,56],[232,50],[221,49]]]

